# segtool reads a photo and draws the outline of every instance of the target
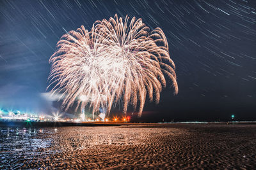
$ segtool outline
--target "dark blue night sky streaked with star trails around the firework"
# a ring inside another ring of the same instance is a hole
[[[164,90],[141,120],[256,120],[255,9],[254,0],[0,0],[0,108],[51,111],[42,94],[60,37],[117,13],[161,27],[176,64],[179,94]]]

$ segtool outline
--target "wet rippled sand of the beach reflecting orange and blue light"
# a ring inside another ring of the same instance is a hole
[[[256,168],[256,125],[0,129],[0,169]]]

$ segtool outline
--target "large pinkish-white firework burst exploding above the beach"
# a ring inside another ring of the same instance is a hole
[[[76,110],[90,106],[93,114],[99,108],[109,114],[122,103],[124,113],[131,104],[141,115],[146,97],[158,103],[166,84],[178,92],[163,31],[150,31],[141,18],[115,15],[95,22],[91,31],[82,25],[61,37],[49,62],[49,87],[52,94],[61,92],[66,110],[77,103]]]

